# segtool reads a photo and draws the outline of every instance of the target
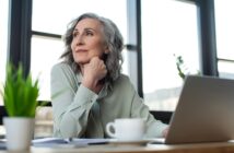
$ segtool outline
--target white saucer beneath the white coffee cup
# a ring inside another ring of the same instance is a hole
[[[126,141],[126,140],[110,140],[108,142],[108,144],[114,144],[114,145],[147,145],[149,142],[151,142],[151,140],[130,140],[130,141]]]

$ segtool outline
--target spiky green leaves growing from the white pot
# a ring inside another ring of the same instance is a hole
[[[39,95],[38,79],[33,81],[31,73],[23,74],[22,64],[19,68],[7,64],[7,78],[1,95],[9,116],[35,117]]]

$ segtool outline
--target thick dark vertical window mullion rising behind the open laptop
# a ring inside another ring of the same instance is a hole
[[[213,0],[197,0],[200,31],[201,71],[218,75],[217,39]]]

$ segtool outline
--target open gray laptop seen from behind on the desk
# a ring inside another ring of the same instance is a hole
[[[164,143],[234,139],[234,80],[188,75]]]

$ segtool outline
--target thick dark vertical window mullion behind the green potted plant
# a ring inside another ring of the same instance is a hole
[[[8,61],[15,67],[21,62],[24,74],[30,72],[32,0],[9,1]]]

